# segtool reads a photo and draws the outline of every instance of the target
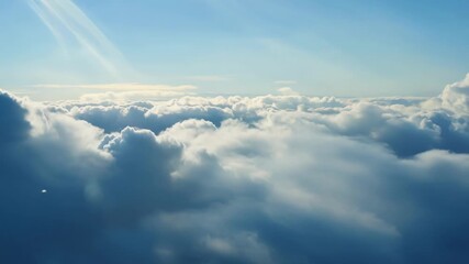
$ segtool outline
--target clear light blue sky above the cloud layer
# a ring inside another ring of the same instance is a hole
[[[48,26],[40,18],[51,16],[47,4],[57,15]],[[120,82],[215,95],[289,86],[314,96],[433,96],[469,69],[468,8],[464,0],[7,0],[0,87],[32,97],[81,92],[38,85]]]

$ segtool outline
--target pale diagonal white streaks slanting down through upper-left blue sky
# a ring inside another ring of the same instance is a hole
[[[78,44],[113,77],[131,70],[121,52],[71,0],[29,3],[64,50],[69,50],[70,42]]]

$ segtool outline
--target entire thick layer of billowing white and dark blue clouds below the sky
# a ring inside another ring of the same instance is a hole
[[[46,105],[0,92],[0,262],[467,263],[466,87]]]

